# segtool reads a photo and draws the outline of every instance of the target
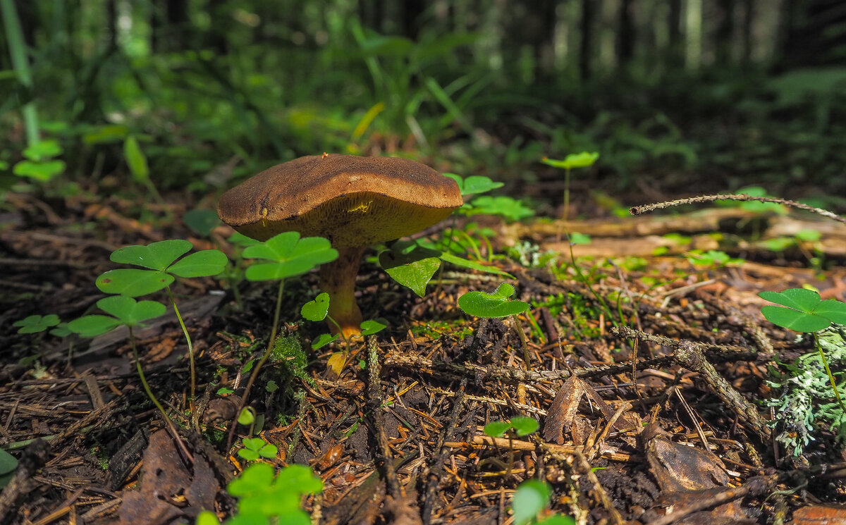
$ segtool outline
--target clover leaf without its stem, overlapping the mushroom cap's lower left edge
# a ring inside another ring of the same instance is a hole
[[[299,276],[312,268],[338,259],[338,250],[322,237],[299,238],[299,232],[283,232],[244,249],[249,259],[272,260],[251,265],[245,273],[250,281],[275,281]]]

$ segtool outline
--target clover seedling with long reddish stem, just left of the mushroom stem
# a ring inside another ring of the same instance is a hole
[[[252,369],[247,386],[244,387],[244,396],[241,396],[239,413],[244,408],[244,403],[250,396],[250,389],[258,377],[261,367],[271,356],[276,336],[279,332],[279,315],[282,311],[282,294],[285,287],[285,279],[301,276],[319,265],[338,259],[338,250],[332,248],[329,239],[322,237],[299,238],[299,232],[283,232],[263,243],[255,243],[244,248],[243,253],[246,259],[258,259],[261,262],[250,265],[244,275],[250,281],[278,281],[276,295],[276,310],[273,314],[273,326],[270,338],[267,340],[267,348],[261,355],[258,363]],[[232,445],[235,433],[235,424],[229,429],[227,448]]]

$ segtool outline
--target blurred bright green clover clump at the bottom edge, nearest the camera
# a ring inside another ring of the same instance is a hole
[[[227,485],[227,492],[238,498],[238,512],[224,525],[284,523],[311,525],[308,513],[299,508],[303,496],[319,494],[323,482],[305,465],[289,465],[273,475],[267,463],[254,463]],[[271,518],[275,518],[271,521]],[[214,512],[203,511],[196,525],[220,525]]]

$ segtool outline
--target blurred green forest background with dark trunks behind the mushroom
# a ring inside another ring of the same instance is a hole
[[[840,0],[0,0],[3,189],[201,200],[323,151],[843,210]],[[555,191],[551,191],[555,190]],[[2,191],[2,190],[0,190]],[[558,202],[547,204],[558,205]]]

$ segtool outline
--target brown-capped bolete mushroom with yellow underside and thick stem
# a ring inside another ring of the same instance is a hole
[[[228,190],[217,215],[260,241],[290,231],[328,238],[338,259],[321,266],[321,288],[347,337],[360,333],[354,290],[365,249],[420,232],[463,202],[453,179],[420,162],[324,153],[283,162]]]

